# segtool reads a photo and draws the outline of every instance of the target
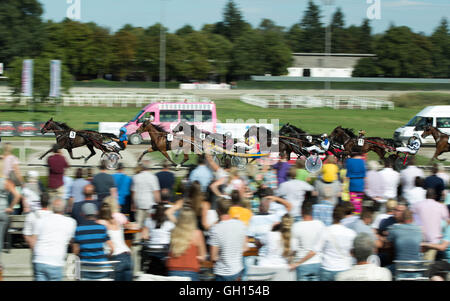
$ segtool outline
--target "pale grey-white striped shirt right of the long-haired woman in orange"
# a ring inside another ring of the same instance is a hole
[[[219,247],[214,274],[232,276],[242,271],[245,238],[246,227],[240,220],[221,221],[211,228],[210,245]]]

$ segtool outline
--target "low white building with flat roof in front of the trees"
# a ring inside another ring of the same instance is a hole
[[[351,53],[293,53],[294,64],[288,76],[297,77],[352,77],[353,70],[362,58],[375,54]]]

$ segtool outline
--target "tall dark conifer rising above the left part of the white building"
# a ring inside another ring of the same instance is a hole
[[[301,52],[323,52],[325,30],[320,21],[320,9],[312,0],[308,2],[308,8],[300,22],[303,30]]]

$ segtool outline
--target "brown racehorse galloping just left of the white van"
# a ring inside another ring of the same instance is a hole
[[[380,157],[380,160],[384,160],[384,156],[387,152],[395,150],[390,141],[386,141],[379,137],[365,137],[364,144],[359,146],[358,136],[353,133],[353,130],[343,128],[342,126],[336,127],[333,132],[331,132],[330,139],[331,141],[341,144],[348,154],[368,153],[369,151],[373,151]]]

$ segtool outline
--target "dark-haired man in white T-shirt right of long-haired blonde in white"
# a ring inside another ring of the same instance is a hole
[[[297,281],[319,281],[320,254],[313,251],[325,230],[325,224],[313,220],[313,203],[305,201],[302,204],[303,220],[292,226],[292,246],[295,250],[295,261],[290,265],[297,270]]]

